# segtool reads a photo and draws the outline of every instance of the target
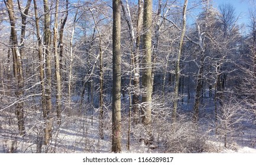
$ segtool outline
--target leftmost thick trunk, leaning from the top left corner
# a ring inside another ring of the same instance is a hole
[[[12,57],[14,64],[14,77],[15,77],[15,95],[18,99],[24,95],[24,77],[22,70],[22,57],[18,48],[17,31],[15,29],[15,16],[14,16],[14,4],[12,0],[4,1],[8,9],[9,20],[11,24],[11,43],[12,43]],[[25,135],[24,124],[24,109],[23,103],[18,102],[15,109],[15,114],[18,119],[18,130],[21,136]]]

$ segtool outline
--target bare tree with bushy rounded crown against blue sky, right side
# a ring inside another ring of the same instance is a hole
[[[222,109],[225,84],[228,71],[226,70],[226,61],[228,55],[233,54],[234,45],[237,42],[237,28],[235,16],[235,8],[231,4],[222,4],[219,6],[219,23],[221,35],[218,37],[218,53],[216,54],[216,81],[215,81],[215,120],[218,120],[218,109]],[[221,43],[221,44],[220,44]],[[218,104],[219,103],[219,104]],[[221,114],[223,115],[223,114]]]

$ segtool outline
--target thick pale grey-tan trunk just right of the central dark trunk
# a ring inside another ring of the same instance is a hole
[[[143,14],[143,57],[142,57],[142,124],[147,135],[151,134],[151,109],[152,109],[152,66],[151,66],[151,26],[152,26],[152,0],[144,1]]]

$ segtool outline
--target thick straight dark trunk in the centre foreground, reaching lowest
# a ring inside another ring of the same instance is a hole
[[[113,1],[112,151],[121,152],[121,2]]]

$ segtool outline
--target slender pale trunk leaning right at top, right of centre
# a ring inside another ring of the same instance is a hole
[[[179,99],[179,81],[180,81],[180,57],[182,56],[182,45],[183,45],[183,39],[186,32],[186,10],[187,10],[187,1],[184,1],[183,6],[183,20],[182,20],[182,31],[180,34],[180,43],[179,43],[179,51],[177,55],[176,60],[176,66],[175,66],[175,85],[174,85],[174,103],[173,103],[173,114],[172,114],[172,120],[173,122],[176,122],[176,116],[177,116],[177,106],[178,106],[178,99]]]

